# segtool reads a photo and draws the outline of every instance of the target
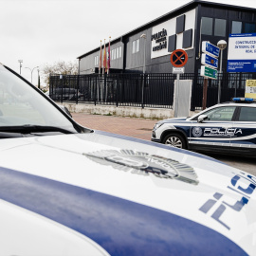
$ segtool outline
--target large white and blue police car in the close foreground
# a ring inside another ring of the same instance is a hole
[[[256,177],[84,128],[0,65],[0,255],[256,255]]]

